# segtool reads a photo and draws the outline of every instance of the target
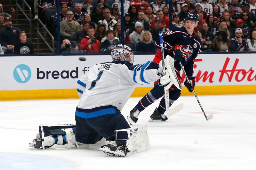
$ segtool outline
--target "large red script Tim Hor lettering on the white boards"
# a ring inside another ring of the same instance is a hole
[[[202,59],[195,59],[194,62],[194,69],[197,67],[196,62],[202,62]],[[235,63],[232,67],[231,70],[228,70],[228,64],[229,64],[230,58],[226,58],[226,61],[222,67],[222,70],[219,70],[220,72],[220,77],[219,77],[219,82],[222,82],[223,78],[228,78],[228,81],[231,82],[233,79],[235,79],[236,82],[240,82],[243,80],[247,80],[247,81],[256,81],[256,74],[254,73],[255,70],[252,70],[252,67],[247,71],[244,69],[237,69],[237,64],[239,62],[239,59],[236,58]],[[214,76],[215,72],[208,72],[208,71],[204,71],[202,72],[201,70],[199,70],[196,73],[196,82],[199,82],[201,79],[202,82],[206,82],[209,81],[209,83],[213,83],[213,76]],[[195,73],[193,73],[193,75],[195,75]],[[182,74],[181,78],[184,80],[185,79],[185,75],[184,73]],[[183,83],[183,81],[181,81],[181,83]]]

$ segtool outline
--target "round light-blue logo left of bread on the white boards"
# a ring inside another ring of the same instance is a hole
[[[20,64],[13,70],[13,77],[18,83],[26,83],[31,78],[31,70],[25,64]]]

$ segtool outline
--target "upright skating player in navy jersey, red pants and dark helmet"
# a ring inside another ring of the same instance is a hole
[[[173,26],[163,35],[164,56],[171,55],[174,58],[174,67],[178,78],[180,78],[179,71],[181,70],[179,63],[182,63],[189,81],[191,82],[191,85],[187,81],[184,83],[189,92],[192,92],[195,86],[195,77],[192,76],[193,64],[202,45],[200,38],[193,32],[197,23],[198,15],[193,12],[188,12],[184,19],[185,26]],[[156,41],[156,47],[159,48],[159,50],[156,52],[156,56],[153,61],[159,63],[161,61],[161,47],[159,39]],[[164,87],[155,83],[154,88],[138,102],[127,116],[129,123],[136,123],[140,112],[157,99],[163,97],[163,95]],[[178,88],[173,86],[169,88],[170,107],[179,97],[180,90]],[[166,121],[168,118],[164,115],[165,111],[165,99],[163,97],[159,106],[150,116],[150,121]]]

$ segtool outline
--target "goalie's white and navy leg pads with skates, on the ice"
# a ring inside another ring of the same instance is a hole
[[[75,139],[76,125],[39,125],[39,133],[36,138],[29,143],[33,148],[85,148],[89,144],[76,142]],[[108,144],[103,143],[100,150],[110,156],[124,157],[129,153],[147,151],[150,148],[147,126],[138,128],[116,130],[116,140]],[[105,138],[103,138],[105,139]],[[102,141],[102,140],[101,140]],[[100,147],[97,142],[96,147]],[[88,148],[88,147],[87,147]]]

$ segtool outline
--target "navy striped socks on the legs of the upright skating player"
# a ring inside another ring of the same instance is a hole
[[[164,86],[160,86],[158,84],[154,85],[154,88],[150,90],[136,105],[138,110],[142,111],[152,103],[154,103],[157,99],[163,97],[164,95]],[[169,101],[170,101],[170,107],[174,103],[175,100],[177,100],[180,97],[180,90],[175,88],[169,88]],[[164,114],[166,111],[165,109],[165,99],[164,97],[159,103],[159,107],[157,108],[160,114]]]

